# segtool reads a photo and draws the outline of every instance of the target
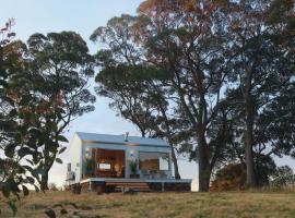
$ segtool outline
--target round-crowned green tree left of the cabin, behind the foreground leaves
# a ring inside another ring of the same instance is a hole
[[[61,135],[64,129],[74,118],[94,110],[95,96],[87,89],[87,81],[94,74],[94,59],[86,43],[74,32],[36,33],[17,48],[26,51],[20,57],[26,57],[22,60],[25,64],[19,64],[22,68],[15,69],[15,74],[1,81],[11,86],[12,102],[5,101],[12,107],[10,116],[17,121],[15,126],[10,125],[16,135],[5,154],[28,159],[46,174],[55,161],[62,162],[55,158],[66,150],[60,147],[68,143]],[[9,68],[14,65],[17,64],[8,63]],[[23,169],[36,178],[39,175],[37,170]]]

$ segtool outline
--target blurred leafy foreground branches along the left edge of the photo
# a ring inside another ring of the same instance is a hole
[[[49,158],[40,149],[62,152],[59,141],[63,137],[52,136],[55,124],[47,121],[63,116],[63,111],[57,105],[59,110],[52,113],[51,104],[35,95],[27,77],[25,45],[13,40],[11,25],[9,21],[0,29],[0,202],[15,214],[15,197],[20,199],[21,192],[28,194],[27,184],[39,190],[43,165]]]

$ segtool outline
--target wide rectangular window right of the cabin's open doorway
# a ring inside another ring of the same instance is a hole
[[[140,170],[169,170],[168,153],[139,153]]]

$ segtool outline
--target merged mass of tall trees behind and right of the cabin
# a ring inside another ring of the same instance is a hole
[[[138,16],[91,36],[105,45],[96,92],[143,136],[179,144],[199,162],[201,190],[237,159],[250,185],[264,183],[271,155],[294,153],[293,9],[288,0],[146,0]]]

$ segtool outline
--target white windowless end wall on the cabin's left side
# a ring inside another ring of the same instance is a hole
[[[82,141],[76,134],[70,145],[70,157],[71,171],[75,174],[75,180],[72,182],[79,182],[82,179]]]

